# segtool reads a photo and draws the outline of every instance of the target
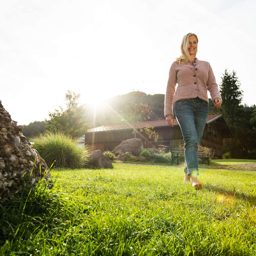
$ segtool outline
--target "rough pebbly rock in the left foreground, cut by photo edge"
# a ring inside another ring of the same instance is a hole
[[[0,203],[18,198],[24,181],[32,188],[42,178],[44,182],[51,179],[50,172],[44,177],[49,168],[22,135],[22,129],[22,125],[11,119],[0,100]]]

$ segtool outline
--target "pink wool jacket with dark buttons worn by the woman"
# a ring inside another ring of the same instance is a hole
[[[207,90],[213,101],[221,98],[210,63],[195,58],[193,65],[194,68],[190,61],[187,64],[172,63],[164,98],[165,117],[173,116],[173,103],[180,99],[199,97],[209,103]]]

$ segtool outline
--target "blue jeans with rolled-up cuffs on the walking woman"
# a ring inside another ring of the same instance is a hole
[[[187,175],[199,175],[197,150],[209,114],[209,105],[198,97],[182,99],[174,103],[174,110],[185,141],[184,172]]]

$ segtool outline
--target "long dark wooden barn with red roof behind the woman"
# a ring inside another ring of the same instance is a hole
[[[147,148],[156,148],[158,145],[177,147],[184,144],[181,129],[176,119],[174,119],[173,128],[166,123],[165,119],[140,122],[139,125],[142,128],[153,126],[159,134],[157,142],[150,140],[144,132],[136,134],[136,138],[141,138]],[[95,127],[85,133],[85,143],[92,146],[93,150],[112,151],[122,140],[134,138],[132,131],[131,123]],[[222,158],[224,153],[223,138],[231,137],[233,136],[222,115],[208,116],[201,141],[202,146],[211,148],[216,157]]]

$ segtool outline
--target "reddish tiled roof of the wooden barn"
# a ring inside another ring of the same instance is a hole
[[[222,115],[208,116],[206,124],[211,123],[212,121],[214,121],[220,117],[222,117]],[[177,119],[174,118],[173,121],[174,121],[174,125],[179,125]],[[132,124],[133,123],[102,125],[99,127],[89,129],[87,133],[133,129],[134,126]],[[156,121],[139,122],[139,126],[141,126],[141,128],[145,128],[146,126],[163,127],[163,126],[169,126],[169,125],[166,123],[166,120],[163,119],[163,120],[156,120]]]

